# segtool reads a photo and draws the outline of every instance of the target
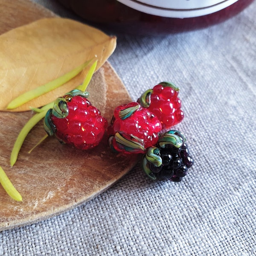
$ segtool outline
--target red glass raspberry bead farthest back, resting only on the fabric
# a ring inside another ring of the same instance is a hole
[[[169,130],[173,125],[181,122],[184,113],[180,109],[181,101],[177,97],[179,88],[169,82],[161,82],[153,89],[145,91],[138,102],[144,108],[154,113],[162,124],[163,131]]]

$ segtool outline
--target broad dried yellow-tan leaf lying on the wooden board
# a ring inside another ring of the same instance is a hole
[[[116,47],[116,38],[65,18],[46,18],[0,35],[0,110],[22,93],[46,84],[90,59],[101,67]],[[96,57],[95,57],[96,56]],[[12,111],[41,107],[73,90],[90,66],[63,86]],[[9,111],[9,110],[8,110]]]

